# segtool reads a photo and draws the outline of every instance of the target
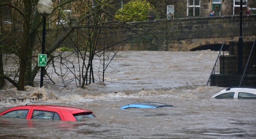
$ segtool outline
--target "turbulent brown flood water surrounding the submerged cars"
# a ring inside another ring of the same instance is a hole
[[[0,111],[27,103],[51,104],[89,109],[97,118],[81,122],[1,118],[0,138],[255,139],[255,100],[210,98],[224,89],[206,85],[217,54],[123,51],[107,69],[104,84],[62,88],[46,81],[43,88],[27,86],[26,91],[6,85],[0,99],[29,98],[36,93],[42,93],[43,99],[1,101]],[[174,107],[119,108],[138,101]]]

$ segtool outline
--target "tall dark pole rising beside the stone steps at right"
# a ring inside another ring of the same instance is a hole
[[[243,36],[242,36],[242,11],[243,0],[240,0],[240,34],[239,34],[239,46],[238,46],[238,74],[243,73]]]

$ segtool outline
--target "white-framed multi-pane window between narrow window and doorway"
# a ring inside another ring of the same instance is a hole
[[[200,0],[188,0],[188,16],[200,16]]]

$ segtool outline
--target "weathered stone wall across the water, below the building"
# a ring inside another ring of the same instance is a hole
[[[243,40],[253,41],[256,38],[256,15],[243,15]],[[143,24],[150,24],[154,21],[144,21]],[[158,22],[156,20],[155,22]],[[181,32],[164,41],[155,40],[150,44],[142,38],[131,39],[115,47],[116,50],[125,48],[126,50],[154,50],[154,51],[189,51],[193,48],[208,44],[222,44],[223,41],[238,41],[240,35],[240,16],[216,16],[200,17],[186,19],[171,19],[168,22],[174,22],[171,29]],[[165,33],[165,30],[162,29]],[[168,32],[173,33],[173,32]],[[128,33],[128,36],[135,34]],[[120,36],[113,36],[119,38]]]

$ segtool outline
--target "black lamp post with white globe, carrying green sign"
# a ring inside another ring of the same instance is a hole
[[[51,0],[39,0],[37,3],[37,11],[43,15],[43,34],[42,34],[42,53],[44,54],[45,50],[45,30],[46,30],[46,16],[53,12],[53,2]],[[44,80],[44,69],[45,67],[41,67],[41,75],[40,75],[40,88],[43,86]]]

